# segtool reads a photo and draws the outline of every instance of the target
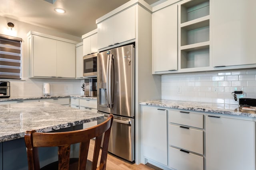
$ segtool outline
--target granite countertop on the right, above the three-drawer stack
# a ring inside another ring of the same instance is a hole
[[[159,106],[174,109],[185,109],[194,111],[204,111],[210,113],[221,113],[228,115],[240,115],[246,117],[256,117],[256,111],[243,110],[238,104],[215,104],[204,102],[188,102],[179,100],[151,100],[148,102],[140,102],[140,105]]]

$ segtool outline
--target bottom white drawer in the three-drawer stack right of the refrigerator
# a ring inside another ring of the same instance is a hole
[[[204,170],[204,158],[169,147],[169,166],[176,170]]]

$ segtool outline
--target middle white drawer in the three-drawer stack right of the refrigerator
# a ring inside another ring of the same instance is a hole
[[[169,125],[169,144],[199,154],[204,154],[203,131]]]

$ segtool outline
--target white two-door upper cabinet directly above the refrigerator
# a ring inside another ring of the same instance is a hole
[[[132,6],[97,23],[98,49],[135,39],[135,9]]]

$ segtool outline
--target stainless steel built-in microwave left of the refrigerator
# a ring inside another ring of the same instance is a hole
[[[97,53],[85,55],[83,61],[83,76],[97,76]]]

